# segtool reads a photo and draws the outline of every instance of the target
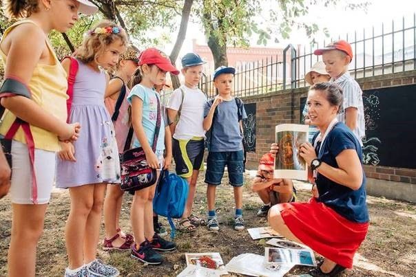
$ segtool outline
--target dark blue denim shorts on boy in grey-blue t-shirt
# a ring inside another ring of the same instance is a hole
[[[244,154],[242,150],[209,152],[205,183],[214,186],[221,184],[225,166],[228,169],[229,184],[236,187],[242,186],[242,173],[244,173]]]

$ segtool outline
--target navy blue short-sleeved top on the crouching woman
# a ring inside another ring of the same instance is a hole
[[[313,137],[316,140],[318,133]],[[333,129],[328,133],[324,141],[323,151],[318,155],[320,142],[318,142],[315,152],[322,162],[338,168],[335,157],[345,149],[354,149],[362,163],[362,148],[360,142],[354,133],[342,122],[335,124]],[[323,202],[329,208],[332,208],[342,217],[357,223],[368,222],[368,210],[366,204],[366,176],[364,170],[362,173],[362,185],[358,190],[331,181],[324,175],[318,173],[316,185],[318,187],[318,201]]]

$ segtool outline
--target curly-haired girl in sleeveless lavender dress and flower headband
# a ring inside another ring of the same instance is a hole
[[[78,276],[87,267],[93,276],[118,276],[118,270],[96,259],[105,183],[120,182],[120,162],[110,114],[104,105],[109,76],[103,69],[118,63],[127,46],[125,31],[101,21],[76,53],[79,69],[74,82],[69,121],[80,122],[79,140],[62,144],[56,187],[69,188],[70,215],[65,227],[69,267],[65,276]],[[70,60],[63,60],[69,71]]]

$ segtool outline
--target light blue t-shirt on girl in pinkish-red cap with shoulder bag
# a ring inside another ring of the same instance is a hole
[[[145,129],[147,142],[150,147],[153,146],[154,131],[156,128],[156,120],[158,116],[158,99],[160,102],[159,94],[153,89],[149,89],[143,85],[135,85],[130,91],[127,101],[132,104],[132,98],[137,96],[143,101],[143,128]],[[160,108],[160,111],[162,109]],[[133,147],[141,147],[140,142],[136,138],[133,143]],[[156,150],[165,150],[165,120],[163,116],[160,116],[160,131],[158,136],[158,142],[156,144]]]

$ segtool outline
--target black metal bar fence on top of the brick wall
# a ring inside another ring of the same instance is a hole
[[[289,44],[284,48],[282,56],[245,63],[236,68],[234,96],[256,96],[308,86],[304,76],[313,63],[320,60],[320,56],[314,55],[313,50],[338,39],[349,41],[353,48],[354,56],[349,70],[354,78],[416,69],[416,14],[413,14],[413,18],[403,17],[399,23],[382,23],[323,43],[311,43],[308,46]],[[204,74],[199,87],[208,97],[216,95],[211,76]],[[170,93],[167,91],[164,98],[168,99]]]

